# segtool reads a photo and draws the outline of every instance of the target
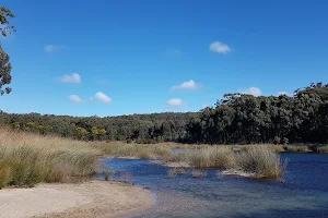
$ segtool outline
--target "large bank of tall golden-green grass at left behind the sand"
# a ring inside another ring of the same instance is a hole
[[[0,189],[92,174],[99,154],[84,142],[0,129]]]

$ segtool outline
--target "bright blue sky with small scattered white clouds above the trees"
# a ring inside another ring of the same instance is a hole
[[[7,112],[198,111],[225,93],[328,82],[328,1],[2,0]]]

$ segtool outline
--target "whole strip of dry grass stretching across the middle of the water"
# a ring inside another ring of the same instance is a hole
[[[255,174],[258,178],[281,178],[284,173],[284,162],[276,153],[283,150],[282,145],[181,145],[185,150],[173,153],[177,144],[109,144],[102,149],[115,157],[128,156],[141,159],[161,158],[167,162],[187,162],[194,168],[224,168]],[[179,148],[181,148],[179,146]],[[175,177],[176,169],[167,172],[168,178]]]

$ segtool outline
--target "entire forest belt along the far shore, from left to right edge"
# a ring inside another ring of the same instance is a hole
[[[321,144],[328,142],[328,85],[311,84],[293,96],[225,94],[199,112],[99,118],[0,111],[0,123],[84,141]]]

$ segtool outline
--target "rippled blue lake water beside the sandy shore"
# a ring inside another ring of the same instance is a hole
[[[124,217],[327,218],[328,155],[281,156],[289,159],[284,183],[219,178],[219,169],[207,170],[203,179],[195,179],[190,173],[167,179],[169,168],[153,165],[151,160],[102,161],[115,170],[114,180],[128,178],[137,185],[150,187],[154,196],[152,208]]]

